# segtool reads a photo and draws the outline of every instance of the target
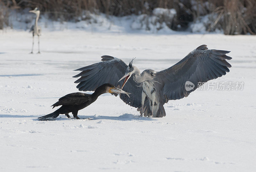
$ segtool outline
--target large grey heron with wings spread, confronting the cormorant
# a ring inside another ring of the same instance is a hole
[[[137,108],[140,116],[163,117],[166,115],[164,103],[187,97],[200,86],[198,83],[216,79],[229,72],[231,65],[226,61],[232,59],[226,56],[229,52],[201,45],[168,69],[158,72],[147,69],[142,73],[132,65],[133,59],[127,65],[116,57],[102,56],[102,62],[75,70],[82,72],[74,78],[80,77],[75,81],[79,83],[76,87],[80,91],[94,91],[103,83],[111,83],[131,93],[130,97],[121,94],[120,98]],[[194,87],[186,89],[186,82]]]

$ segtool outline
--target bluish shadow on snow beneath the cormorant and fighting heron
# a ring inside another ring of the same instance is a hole
[[[37,116],[35,116],[37,117]],[[144,121],[153,121],[153,120],[156,120],[156,119],[153,119],[153,118],[148,118],[148,117],[140,117],[140,116],[136,116],[136,115],[132,115],[132,114],[123,114],[123,115],[120,115],[120,116],[82,116],[82,115],[78,115],[79,118],[81,119],[88,119],[90,118],[90,120],[98,120],[98,119],[106,119],[106,120],[117,120],[117,121],[132,121],[132,120],[144,120]],[[48,118],[48,119],[43,119],[43,120],[40,120],[40,119],[32,119],[34,121],[63,121],[63,120],[73,120],[74,118],[68,118],[68,117],[63,117],[63,116],[60,116],[60,117],[57,117],[57,118]],[[75,119],[75,120],[79,120],[79,119]]]

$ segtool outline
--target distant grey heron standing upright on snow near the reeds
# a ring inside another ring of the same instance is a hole
[[[33,54],[33,48],[34,48],[34,36],[37,35],[38,36],[38,54],[40,54],[40,41],[39,41],[39,36],[41,36],[41,27],[37,25],[38,19],[39,19],[39,15],[40,15],[40,11],[38,10],[38,8],[36,7],[34,10],[30,10],[29,12],[35,13],[36,14],[36,19],[35,19],[35,25],[31,26],[30,31],[33,34],[33,42],[32,42],[32,50],[30,52],[30,54]]]

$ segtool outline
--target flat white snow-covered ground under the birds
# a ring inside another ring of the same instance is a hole
[[[256,37],[221,34],[0,33],[1,171],[253,171],[256,168]],[[142,71],[170,67],[202,44],[230,50],[232,68],[214,82],[244,82],[242,91],[194,91],[164,105],[163,118],[139,117],[109,93],[78,112],[51,105],[78,92],[74,69],[119,57]],[[35,50],[37,52],[37,44]]]

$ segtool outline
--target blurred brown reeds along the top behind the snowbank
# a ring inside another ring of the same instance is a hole
[[[81,16],[84,10],[125,16],[151,15],[156,7],[174,8],[177,11],[174,30],[177,26],[186,28],[200,16],[212,14],[217,17],[212,19],[208,31],[220,27],[224,34],[256,34],[256,0],[0,0],[0,29],[8,26],[8,9],[35,7],[53,20],[65,21]]]

